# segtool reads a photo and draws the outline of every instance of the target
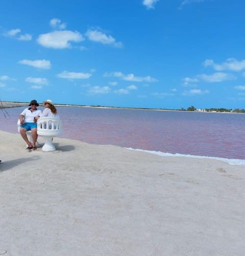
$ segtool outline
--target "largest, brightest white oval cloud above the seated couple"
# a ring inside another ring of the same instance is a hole
[[[38,44],[46,48],[70,48],[70,42],[83,41],[83,36],[78,31],[62,30],[41,34],[37,38]]]

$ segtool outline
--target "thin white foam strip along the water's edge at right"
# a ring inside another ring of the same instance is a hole
[[[165,156],[165,157],[192,157],[192,158],[207,158],[207,159],[215,159],[227,162],[232,165],[245,165],[245,160],[243,159],[228,159],[228,158],[221,158],[221,157],[206,157],[206,156],[194,156],[194,155],[184,155],[184,154],[171,154],[171,153],[163,153],[161,151],[149,151],[149,150],[139,150],[132,147],[126,147],[127,150],[135,150],[135,151],[142,151],[142,152],[148,152],[151,154],[159,155],[159,156]]]

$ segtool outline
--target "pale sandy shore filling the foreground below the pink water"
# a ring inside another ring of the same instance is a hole
[[[243,255],[244,166],[0,131],[0,253]]]

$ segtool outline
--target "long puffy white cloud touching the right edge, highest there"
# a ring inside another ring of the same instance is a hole
[[[230,70],[238,72],[245,69],[245,59],[238,61],[235,58],[228,58],[225,62],[220,64],[215,63],[212,59],[206,59],[203,65],[205,67],[211,66],[216,71]]]

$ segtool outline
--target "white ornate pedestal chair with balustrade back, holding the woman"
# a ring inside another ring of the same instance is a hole
[[[45,143],[42,151],[55,151],[53,138],[62,133],[62,123],[60,118],[41,117],[37,120],[37,134],[44,137]]]

